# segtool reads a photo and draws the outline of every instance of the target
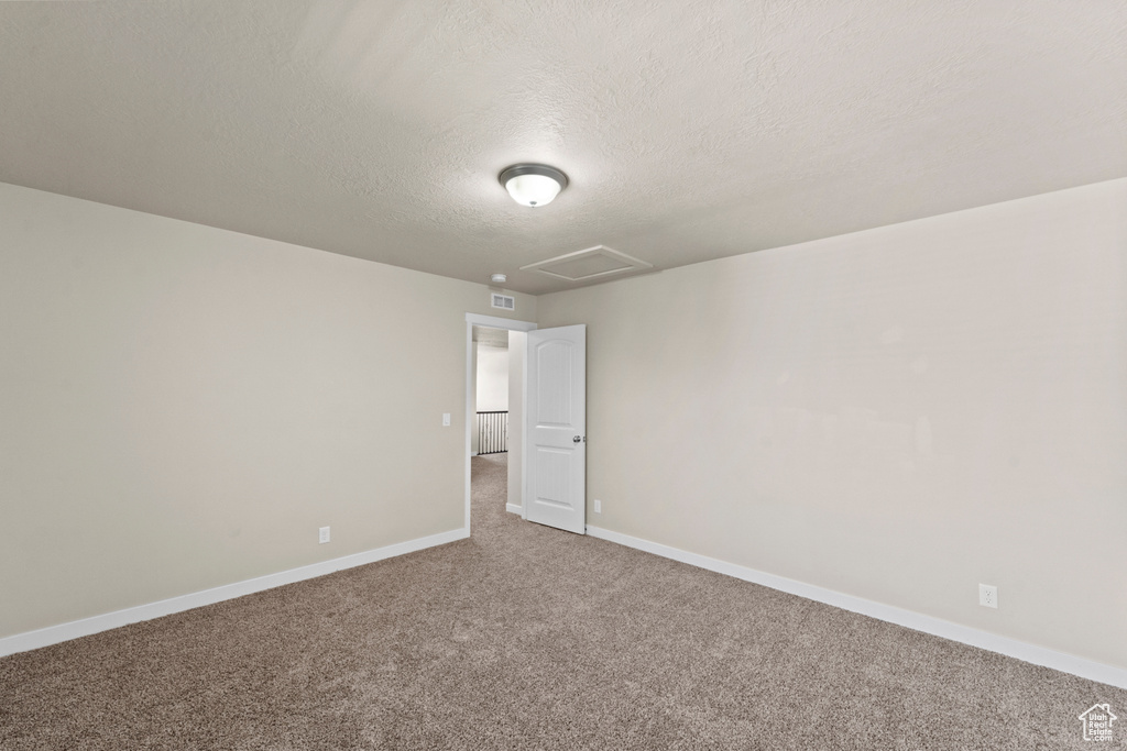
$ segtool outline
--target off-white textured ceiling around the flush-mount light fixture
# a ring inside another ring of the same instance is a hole
[[[0,2],[0,71],[2,181],[530,293],[1127,176],[1120,0]]]

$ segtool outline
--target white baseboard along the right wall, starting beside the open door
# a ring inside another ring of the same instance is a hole
[[[841,592],[835,592],[832,589],[815,587],[814,584],[807,584],[793,579],[787,579],[786,576],[777,576],[775,574],[769,574],[763,571],[756,571],[755,569],[736,565],[735,563],[727,563],[726,561],[710,558],[704,555],[698,555],[696,553],[689,553],[687,551],[669,547],[668,545],[662,545],[660,543],[651,543],[648,539],[631,537],[630,535],[611,531],[610,529],[588,526],[587,534],[592,537],[618,543],[619,545],[625,545],[627,547],[633,547],[639,551],[645,551],[646,553],[660,555],[662,557],[687,563],[700,569],[708,569],[709,571],[726,574],[735,579],[742,579],[744,581],[763,584],[764,587],[770,587],[771,589],[777,589],[782,592],[805,597],[808,600],[825,602],[826,605],[832,605],[835,608],[851,610],[852,613],[860,613],[861,615],[869,616],[870,618],[877,618],[878,620],[885,620],[898,626],[920,631],[925,634],[949,638],[952,642],[960,642],[962,644],[977,646],[990,652],[997,652],[999,654],[1017,658],[1018,660],[1031,662],[1036,665],[1053,668],[1054,670],[1059,670],[1073,676],[1080,676],[1081,678],[1099,681],[1109,686],[1127,688],[1127,670],[1122,668],[1116,668],[1113,665],[1107,665],[1093,660],[1077,658],[1073,654],[1057,652],[1048,647],[1029,644],[1028,642],[999,636],[997,634],[991,634],[990,632],[970,628],[969,626],[960,626],[959,624],[950,620],[926,616],[913,610],[905,610],[904,608],[897,608],[890,605],[881,605],[880,602],[866,600],[860,597],[853,597],[852,594],[843,594]]]

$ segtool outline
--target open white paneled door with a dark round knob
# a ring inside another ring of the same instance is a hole
[[[584,535],[587,327],[530,331],[525,378],[525,518]]]

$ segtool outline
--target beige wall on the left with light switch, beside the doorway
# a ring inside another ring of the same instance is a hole
[[[461,528],[488,302],[0,185],[0,637]]]

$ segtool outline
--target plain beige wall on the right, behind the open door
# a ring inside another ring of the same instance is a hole
[[[1127,180],[539,304],[591,524],[1127,667]]]

